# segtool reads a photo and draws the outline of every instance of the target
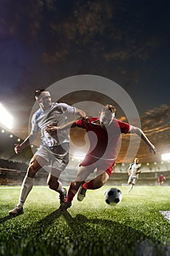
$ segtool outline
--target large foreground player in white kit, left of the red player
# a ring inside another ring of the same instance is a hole
[[[23,143],[15,146],[15,153],[20,154],[23,148],[31,145],[37,138],[39,130],[41,130],[42,144],[29,163],[20,190],[18,205],[12,211],[9,211],[10,215],[23,214],[23,204],[33,187],[34,176],[44,166],[50,166],[51,168],[47,179],[48,186],[59,193],[60,203],[64,202],[66,189],[63,188],[58,178],[69,162],[69,133],[65,130],[50,136],[45,129],[47,124],[53,123],[56,126],[65,124],[69,115],[78,115],[83,118],[86,116],[83,110],[65,103],[52,102],[50,92],[45,91],[45,89],[36,90],[35,98],[40,108],[32,116],[30,134]]]

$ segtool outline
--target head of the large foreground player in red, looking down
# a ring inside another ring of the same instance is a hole
[[[115,107],[112,105],[105,105],[99,113],[101,125],[108,126],[111,124],[113,118],[115,117]]]

